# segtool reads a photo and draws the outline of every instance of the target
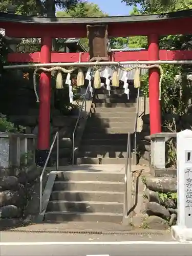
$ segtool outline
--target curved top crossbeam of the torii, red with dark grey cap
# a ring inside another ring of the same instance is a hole
[[[10,37],[87,37],[86,25],[107,24],[112,37],[190,34],[192,10],[166,14],[114,17],[51,18],[15,15],[0,12],[0,25]],[[17,29],[15,29],[16,24]],[[30,27],[29,27],[30,26]],[[38,27],[38,29],[36,29]]]

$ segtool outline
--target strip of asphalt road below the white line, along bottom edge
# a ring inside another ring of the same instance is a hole
[[[1,245],[1,256],[191,256],[192,244]]]

